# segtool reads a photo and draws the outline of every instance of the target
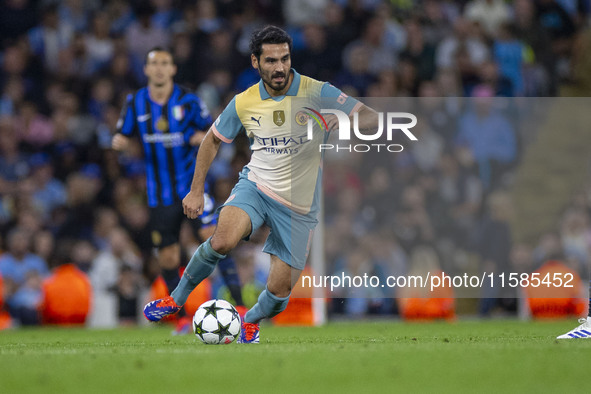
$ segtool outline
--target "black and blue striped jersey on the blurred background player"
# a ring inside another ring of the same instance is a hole
[[[189,140],[211,123],[201,99],[176,84],[165,105],[152,101],[147,87],[127,97],[117,132],[142,142],[150,207],[171,205],[189,192],[197,153]]]

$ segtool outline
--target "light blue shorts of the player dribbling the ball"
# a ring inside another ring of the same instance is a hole
[[[231,205],[245,211],[250,216],[252,232],[263,223],[267,224],[271,232],[263,252],[279,257],[295,269],[304,269],[318,220],[312,215],[298,214],[273,200],[246,176],[244,172],[240,174],[240,180],[221,208]]]

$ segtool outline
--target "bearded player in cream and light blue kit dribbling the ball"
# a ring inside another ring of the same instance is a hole
[[[327,116],[326,130],[315,129],[314,139],[307,140],[303,121],[307,112],[294,109],[295,100],[303,98],[318,105],[322,98],[333,98],[333,109],[349,114],[350,119],[358,113],[360,129],[375,130],[378,120],[375,111],[334,86],[293,70],[291,43],[291,37],[275,26],[251,37],[251,62],[261,80],[232,99],[201,143],[191,190],[183,199],[185,214],[192,219],[203,211],[205,177],[222,142],[230,143],[238,133],[246,132],[251,160],[222,206],[213,236],[197,249],[177,288],[170,297],[145,306],[144,314],[150,320],[178,312],[217,262],[263,223],[271,228],[263,249],[271,255],[267,287],[246,313],[238,342],[258,343],[258,323],[286,308],[317,223],[321,184],[318,142],[326,139],[327,131],[337,122],[336,117]]]

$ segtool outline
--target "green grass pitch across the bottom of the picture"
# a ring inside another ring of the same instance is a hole
[[[591,340],[576,325],[458,321],[261,328],[260,345],[203,345],[157,325],[0,332],[0,393],[575,392]]]

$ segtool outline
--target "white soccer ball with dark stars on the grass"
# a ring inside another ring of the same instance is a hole
[[[203,343],[229,344],[240,334],[240,316],[225,300],[209,300],[193,316],[193,332]]]

